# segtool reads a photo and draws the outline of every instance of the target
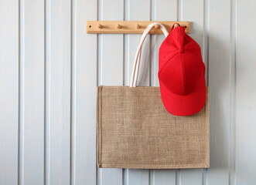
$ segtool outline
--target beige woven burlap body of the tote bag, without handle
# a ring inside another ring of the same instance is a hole
[[[97,165],[107,168],[208,168],[209,89],[193,116],[173,116],[159,87],[97,87]]]

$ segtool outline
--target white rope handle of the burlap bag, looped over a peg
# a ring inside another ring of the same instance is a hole
[[[145,31],[142,34],[142,39],[138,45],[138,49],[136,51],[135,55],[135,62],[133,64],[132,68],[132,73],[131,73],[131,82],[130,82],[130,87],[136,87],[137,86],[137,81],[138,81],[138,71],[139,71],[139,66],[141,62],[141,55],[142,55],[142,45],[143,42],[145,41],[145,38],[147,37],[148,33],[150,30],[155,26],[159,25],[160,29],[162,29],[162,32],[164,35],[167,37],[169,35],[169,32],[167,31],[166,27],[159,22],[153,22],[152,24],[148,25],[148,27],[145,29]]]

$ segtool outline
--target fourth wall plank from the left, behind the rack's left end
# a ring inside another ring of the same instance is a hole
[[[84,32],[84,19],[97,18],[97,2],[75,0],[72,8],[71,184],[95,185],[97,35]]]

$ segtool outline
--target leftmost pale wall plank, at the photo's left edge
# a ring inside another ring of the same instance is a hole
[[[19,2],[0,1],[0,184],[18,184]]]

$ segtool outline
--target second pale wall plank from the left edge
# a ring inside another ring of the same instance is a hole
[[[44,1],[21,1],[20,184],[44,183]],[[35,15],[35,16],[31,16]]]

